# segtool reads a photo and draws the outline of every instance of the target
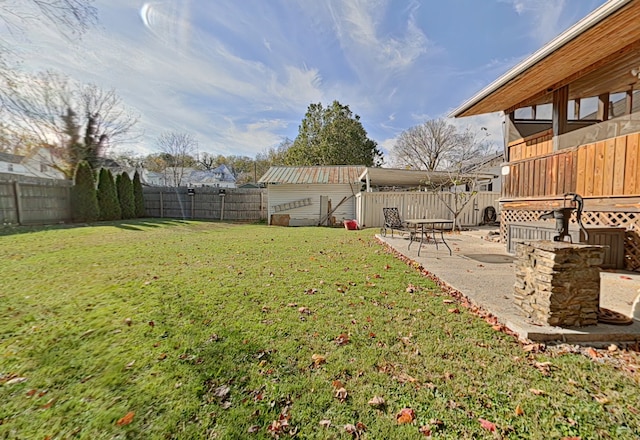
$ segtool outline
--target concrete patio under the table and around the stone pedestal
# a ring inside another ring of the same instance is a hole
[[[485,240],[495,227],[480,227],[459,234],[445,234],[452,250],[439,244],[418,244],[408,249],[409,240],[394,235],[378,238],[397,252],[419,263],[447,286],[459,291],[474,305],[494,315],[498,321],[522,340],[534,342],[566,342],[601,346],[609,343],[624,345],[640,341],[640,320],[631,325],[610,325],[563,328],[541,326],[531,322],[514,304],[515,270],[513,255],[505,245]],[[633,316],[634,301],[640,289],[640,273],[603,271],[600,274],[600,306]]]

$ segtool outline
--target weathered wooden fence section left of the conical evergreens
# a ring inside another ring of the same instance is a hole
[[[71,219],[69,180],[0,173],[0,221],[3,225],[46,225]]]

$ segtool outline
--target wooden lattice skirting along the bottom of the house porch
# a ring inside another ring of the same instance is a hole
[[[500,237],[507,243],[509,223],[537,222],[540,214],[546,211],[503,209],[500,213]],[[555,225],[553,220],[550,225]],[[576,223],[575,215],[571,219]],[[582,223],[585,226],[613,226],[627,228],[624,243],[625,268],[640,271],[640,213],[635,212],[607,212],[585,211],[582,213]]]

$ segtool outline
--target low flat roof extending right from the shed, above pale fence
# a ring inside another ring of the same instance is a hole
[[[367,168],[360,180],[374,186],[418,187],[427,184],[442,185],[451,182],[452,176],[461,180],[486,181],[498,176],[487,173],[469,173],[456,175],[448,171],[403,170],[396,168]]]

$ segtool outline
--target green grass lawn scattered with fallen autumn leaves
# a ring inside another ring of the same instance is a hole
[[[637,372],[523,349],[375,232],[5,232],[0,438],[638,438]]]

